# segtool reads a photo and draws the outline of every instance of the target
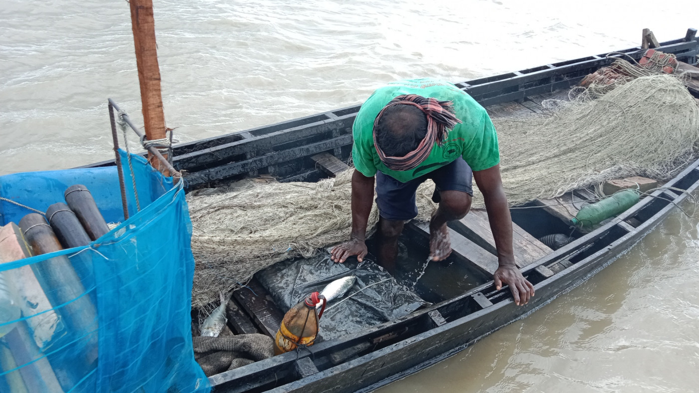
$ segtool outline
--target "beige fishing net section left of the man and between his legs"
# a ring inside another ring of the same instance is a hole
[[[218,299],[219,290],[243,285],[269,265],[287,258],[310,258],[322,247],[349,239],[352,170],[317,183],[252,184],[242,191],[189,196],[192,252],[196,261],[192,305]],[[419,218],[434,203],[433,188],[418,193]],[[369,215],[368,234],[379,214]]]

